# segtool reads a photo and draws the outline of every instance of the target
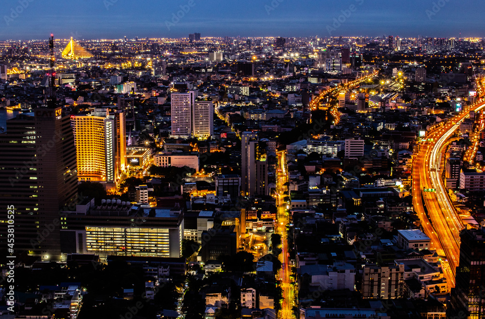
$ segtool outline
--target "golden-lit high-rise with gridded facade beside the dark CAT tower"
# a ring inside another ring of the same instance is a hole
[[[91,114],[71,116],[78,178],[114,187],[126,169],[125,112],[95,109]]]

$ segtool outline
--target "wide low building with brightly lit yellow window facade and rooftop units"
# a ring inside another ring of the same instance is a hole
[[[81,205],[82,204],[82,205]],[[86,201],[67,212],[63,252],[108,255],[180,257],[183,210],[138,207],[121,200]]]

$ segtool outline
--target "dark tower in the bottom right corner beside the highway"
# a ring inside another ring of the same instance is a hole
[[[460,264],[456,267],[456,285],[451,290],[446,315],[482,319],[485,318],[485,229],[464,229],[460,239]]]

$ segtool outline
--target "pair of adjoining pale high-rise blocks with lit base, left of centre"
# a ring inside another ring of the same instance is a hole
[[[197,91],[172,93],[172,136],[207,139],[214,133],[212,101],[196,101]]]

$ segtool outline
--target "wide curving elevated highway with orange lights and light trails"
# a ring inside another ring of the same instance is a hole
[[[444,171],[446,147],[460,123],[469,117],[469,111],[478,112],[485,107],[484,99],[436,126],[426,134],[418,155],[413,160],[413,206],[424,233],[431,239],[431,249],[445,256],[442,269],[449,287],[454,287],[455,271],[460,255],[459,233],[464,228],[441,178]],[[434,189],[435,192],[424,191]]]

